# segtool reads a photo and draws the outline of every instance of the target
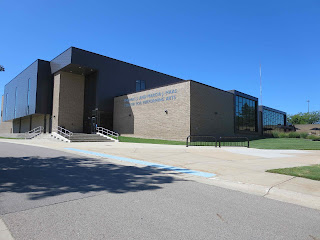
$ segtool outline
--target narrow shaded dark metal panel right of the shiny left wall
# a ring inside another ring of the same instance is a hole
[[[36,113],[52,113],[53,76],[50,62],[38,61]]]

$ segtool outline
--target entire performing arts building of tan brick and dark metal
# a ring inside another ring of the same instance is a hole
[[[0,132],[38,126],[51,132],[60,126],[92,133],[100,126],[122,135],[184,140],[189,135],[258,135],[264,129],[253,96],[74,47],[51,61],[32,63],[5,86],[2,103]],[[274,111],[283,117],[269,125],[285,125],[285,113]]]

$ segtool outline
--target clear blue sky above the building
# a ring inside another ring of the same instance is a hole
[[[320,110],[320,1],[1,1],[0,93],[36,59],[70,46],[259,97]]]

